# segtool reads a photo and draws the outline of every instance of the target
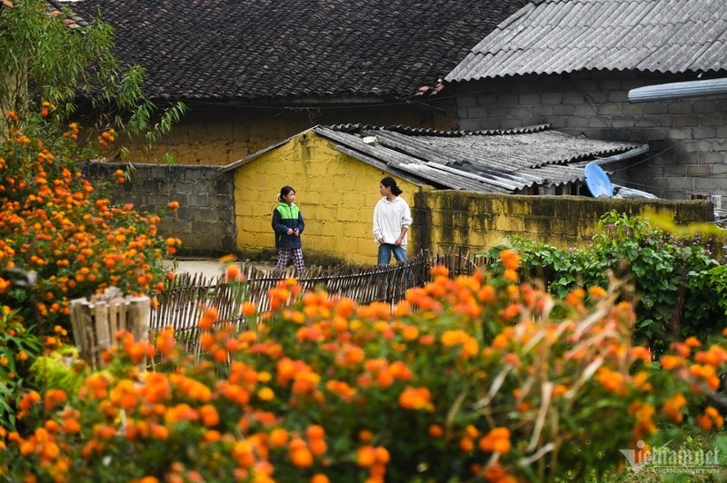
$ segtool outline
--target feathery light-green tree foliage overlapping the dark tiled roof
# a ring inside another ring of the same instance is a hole
[[[63,15],[51,15],[48,9],[45,0],[22,0],[0,9],[0,112],[26,120],[43,103],[54,106],[55,115],[43,123],[47,140],[60,135],[83,104],[85,112],[93,113],[93,126],[91,119],[84,121],[88,140],[113,127],[119,134],[143,135],[151,150],[179,121],[184,104],[160,110],[144,96],[144,68],[115,58],[109,25],[86,18],[88,25],[71,27],[65,24],[72,16],[68,9]]]

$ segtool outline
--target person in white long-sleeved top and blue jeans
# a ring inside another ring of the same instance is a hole
[[[379,184],[383,196],[373,209],[373,239],[379,245],[379,265],[388,265],[393,257],[396,263],[406,261],[406,232],[412,226],[412,212],[399,195],[402,190],[391,176]]]

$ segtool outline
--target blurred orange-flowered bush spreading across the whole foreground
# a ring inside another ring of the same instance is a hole
[[[20,399],[26,430],[3,433],[0,468],[55,481],[543,480],[620,468],[618,450],[655,444],[664,421],[722,427],[703,403],[727,364],[722,335],[657,362],[632,345],[618,282],[557,300],[518,281],[513,251],[499,263],[454,279],[436,268],[393,310],[283,281],[255,330],[205,311],[198,354],[172,330],[154,345],[120,333],[80,390]]]

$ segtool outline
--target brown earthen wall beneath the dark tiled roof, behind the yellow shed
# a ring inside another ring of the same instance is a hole
[[[430,104],[434,107],[420,103],[302,109],[190,103],[180,123],[155,144],[152,153],[144,153],[143,141],[128,143],[127,159],[133,163],[158,163],[168,152],[179,164],[224,166],[316,124],[402,124],[441,130],[456,127],[453,99]]]

